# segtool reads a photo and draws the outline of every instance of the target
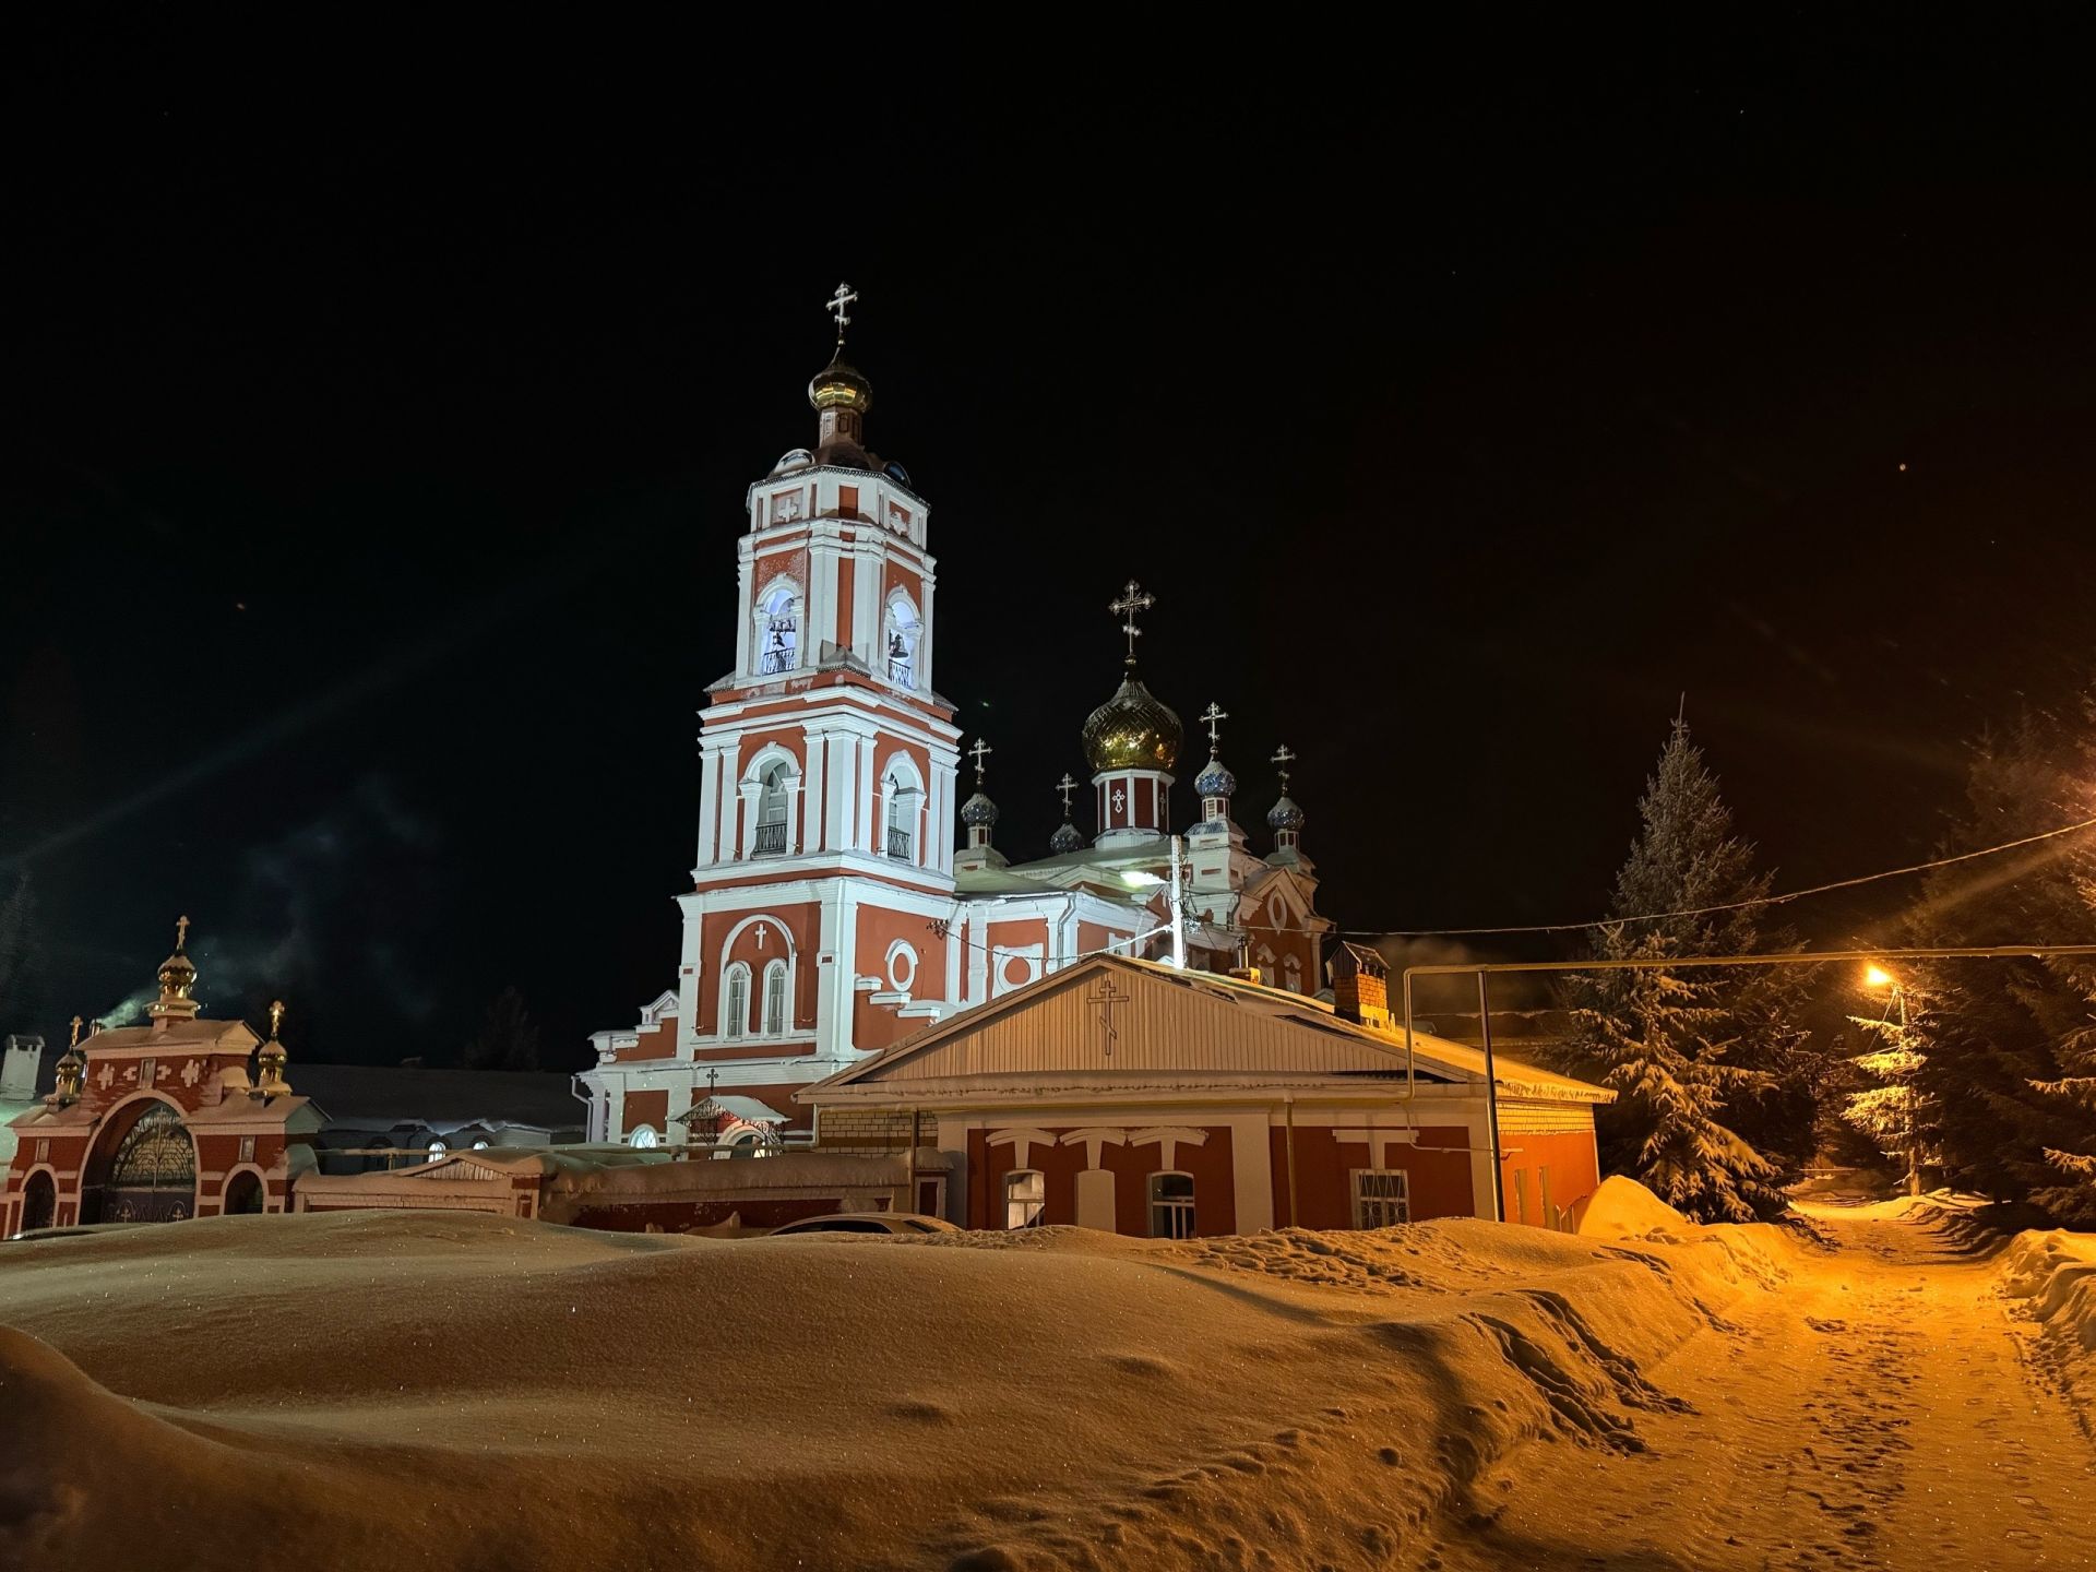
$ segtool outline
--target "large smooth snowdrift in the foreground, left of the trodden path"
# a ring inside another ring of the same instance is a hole
[[[1652,1371],[1786,1270],[1694,1232],[10,1245],[0,1566],[1383,1566],[1526,1440],[1643,1446]]]

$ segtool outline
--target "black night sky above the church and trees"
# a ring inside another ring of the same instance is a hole
[[[629,40],[268,107],[140,40],[40,59],[0,861],[52,1019],[0,1029],[111,1008],[178,912],[293,1054],[442,1056],[507,983],[555,1063],[631,1025],[840,277],[1010,855],[1130,576],[1262,849],[1302,755],[1344,926],[1595,914],[1683,692],[1780,885],[1926,855],[1964,742],[2096,631],[2056,40],[1404,42],[973,96],[893,40],[755,84]]]

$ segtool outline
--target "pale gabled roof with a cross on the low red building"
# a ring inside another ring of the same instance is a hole
[[[1111,994],[1111,998],[1109,998]],[[1482,1084],[1484,1054],[1413,1035],[1421,1082]],[[1503,1096],[1608,1102],[1568,1075],[1494,1054]],[[1402,1031],[1339,1019],[1329,1004],[1218,973],[1094,956],[947,1017],[878,1058],[799,1092],[805,1102],[1058,1088],[1230,1088],[1375,1082],[1406,1073]]]

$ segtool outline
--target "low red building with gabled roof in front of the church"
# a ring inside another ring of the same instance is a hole
[[[1501,1197],[1509,1222],[1566,1228],[1599,1184],[1593,1109],[1612,1096],[1406,1044],[1352,947],[1331,1004],[1094,956],[801,1094],[824,1151],[937,1157],[954,1222],[1153,1239],[1494,1218]]]

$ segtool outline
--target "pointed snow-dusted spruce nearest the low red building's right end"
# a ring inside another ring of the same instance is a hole
[[[1733,905],[1767,893],[1754,849],[1731,832],[1731,811],[1687,725],[1675,721],[1637,805],[1641,828],[1616,876],[1597,960],[1752,954],[1773,945],[1752,910],[1652,916]],[[1643,920],[1637,920],[1643,918]],[[1786,1178],[1742,1134],[1782,1098],[1780,1079],[1805,1054],[1792,1021],[1798,989],[1767,970],[1608,970],[1574,975],[1564,1002],[1572,1033],[1566,1069],[1616,1092],[1601,1109],[1601,1165],[1641,1180],[1668,1205],[1706,1222],[1782,1211]],[[1811,1111],[1794,1117],[1788,1157],[1809,1155]]]

